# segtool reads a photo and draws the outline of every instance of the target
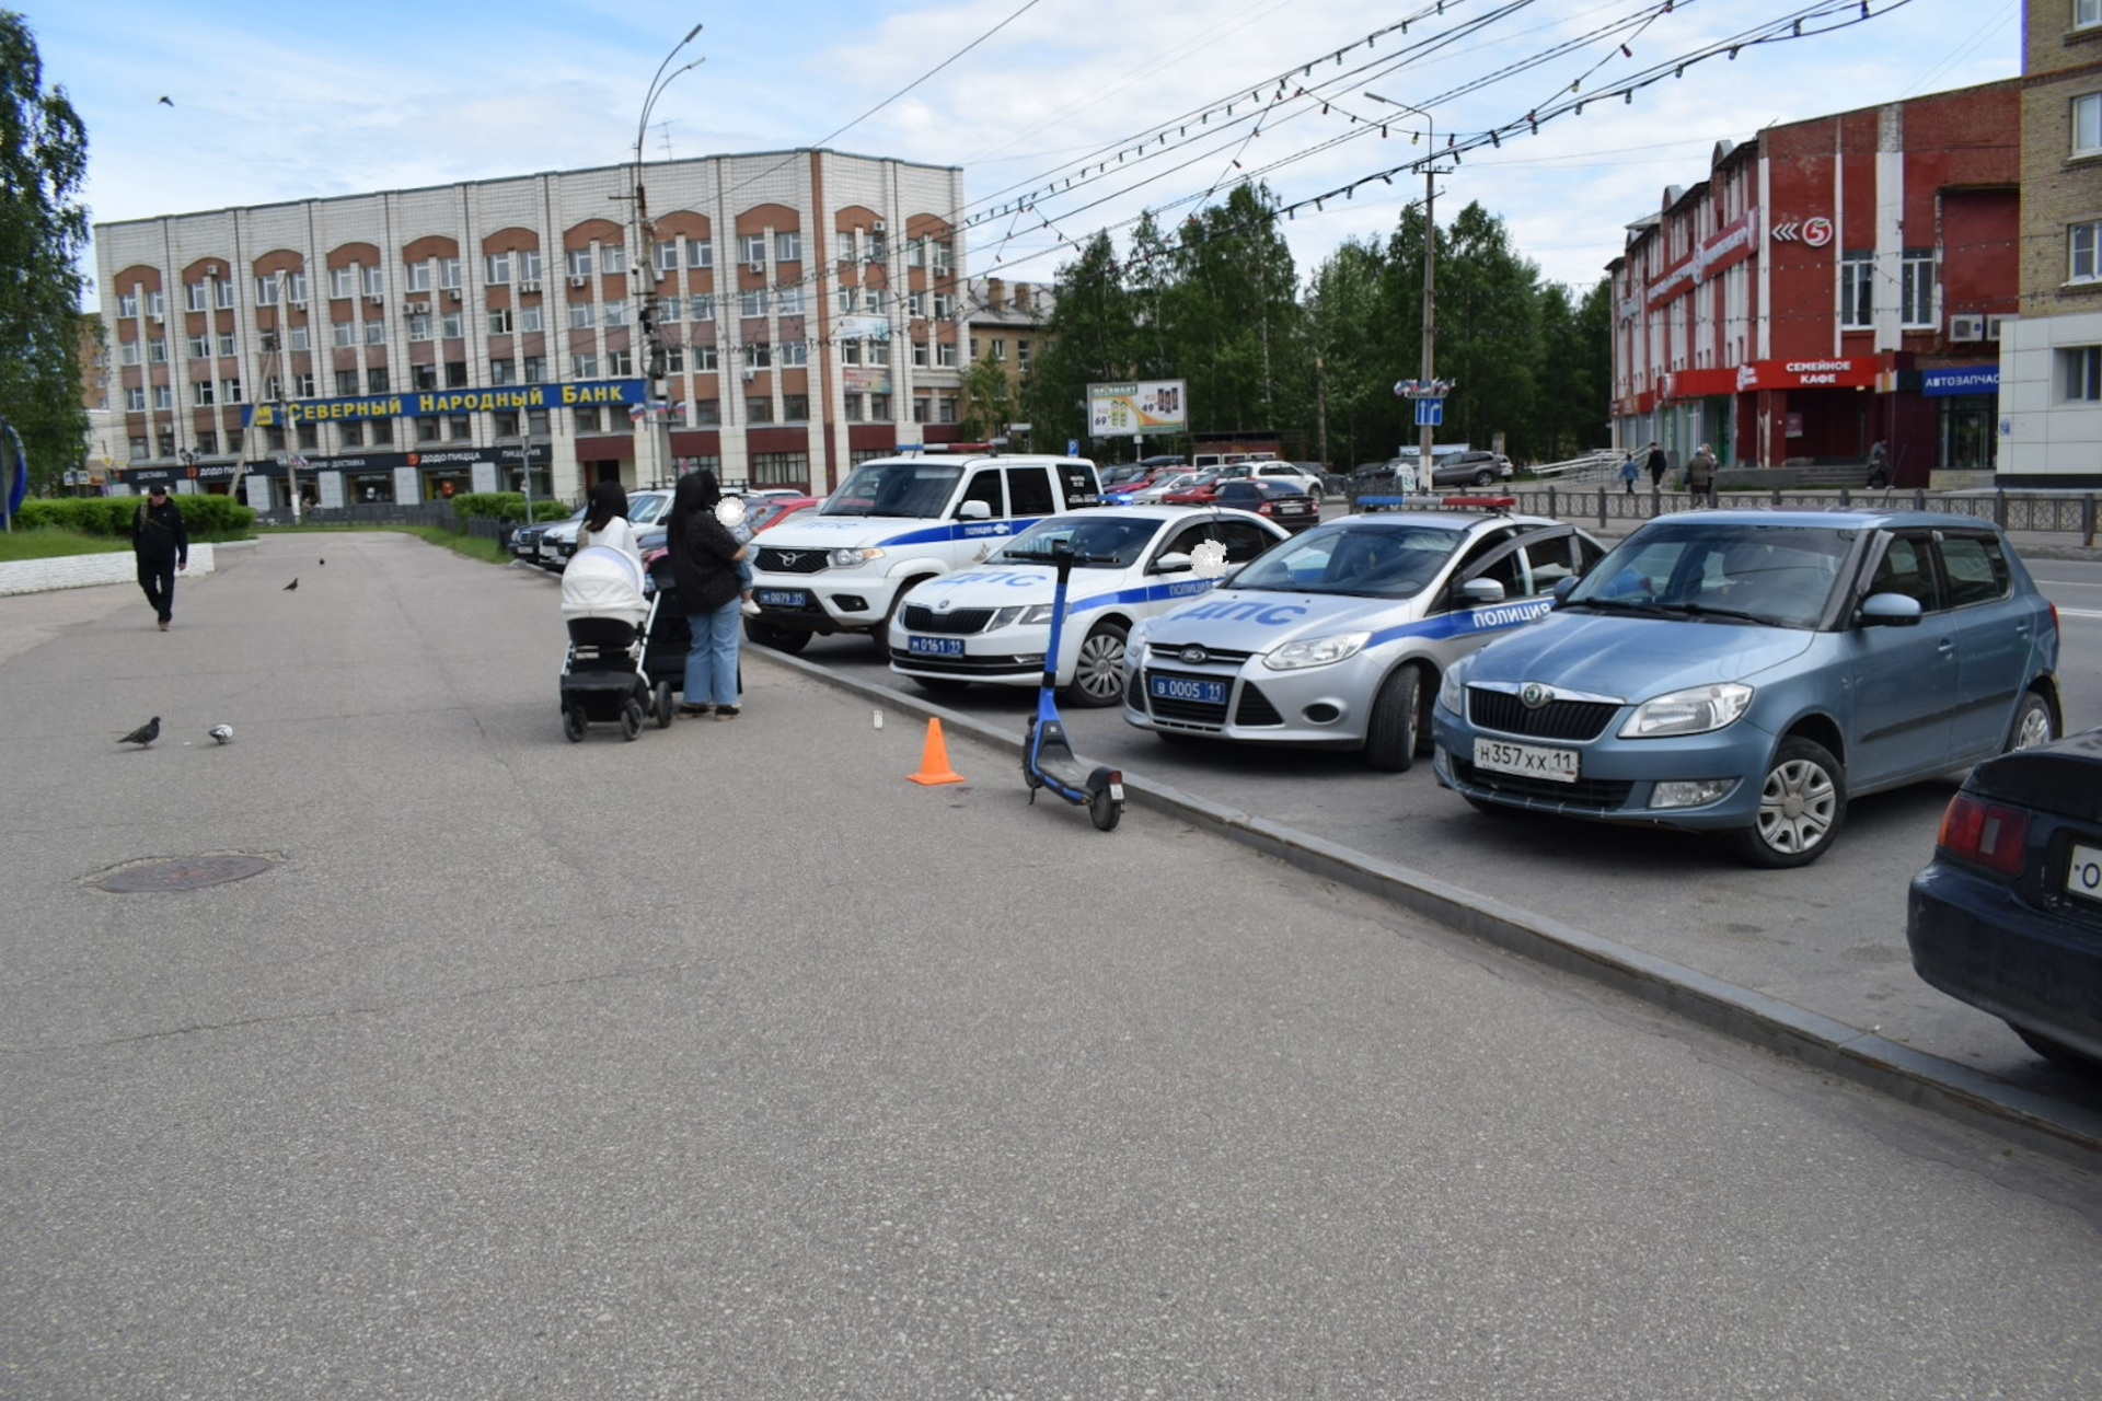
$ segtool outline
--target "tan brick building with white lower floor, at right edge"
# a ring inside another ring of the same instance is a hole
[[[2003,485],[2102,487],[2102,0],[2022,6],[2022,319]]]

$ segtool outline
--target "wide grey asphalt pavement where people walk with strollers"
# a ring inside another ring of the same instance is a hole
[[[2102,1393],[2052,1159],[759,655],[563,744],[523,569],[107,599],[0,599],[11,1399]]]

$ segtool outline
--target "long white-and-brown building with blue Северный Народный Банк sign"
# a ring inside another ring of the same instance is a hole
[[[639,174],[645,210],[610,166],[97,225],[116,489],[431,500],[517,489],[530,447],[542,496],[692,466],[822,494],[954,437],[961,170]]]

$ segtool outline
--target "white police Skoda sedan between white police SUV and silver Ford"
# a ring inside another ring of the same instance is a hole
[[[929,691],[973,681],[1034,687],[1051,643],[1053,548],[1074,550],[1066,582],[1057,685],[1078,706],[1114,706],[1125,636],[1133,624],[1211,592],[1219,571],[1268,550],[1284,531],[1244,510],[1215,506],[1099,508],[1038,521],[984,563],[925,580],[889,624],[891,670]],[[1213,548],[1204,550],[1207,542]]]

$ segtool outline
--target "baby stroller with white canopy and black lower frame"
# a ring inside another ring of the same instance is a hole
[[[622,737],[643,733],[643,716],[671,725],[671,685],[650,685],[643,647],[656,599],[643,594],[641,567],[603,544],[578,550],[561,571],[561,615],[570,651],[561,660],[561,733],[572,744],[593,720],[620,723]]]

